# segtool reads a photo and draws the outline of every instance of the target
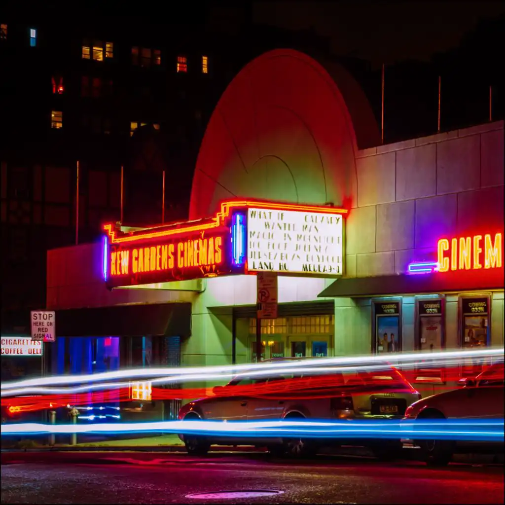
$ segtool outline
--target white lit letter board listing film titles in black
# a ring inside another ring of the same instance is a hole
[[[249,208],[249,271],[342,275],[342,221],[336,212]]]

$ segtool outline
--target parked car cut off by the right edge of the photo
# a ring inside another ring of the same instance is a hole
[[[503,419],[503,362],[489,366],[463,388],[428,396],[405,412],[413,419]],[[411,424],[409,422],[409,424]],[[455,452],[503,452],[503,443],[451,440],[415,440],[428,465],[447,465]]]

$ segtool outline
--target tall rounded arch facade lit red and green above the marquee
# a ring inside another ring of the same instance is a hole
[[[377,136],[365,94],[341,67],[291,49],[265,53],[238,73],[212,114],[189,218],[242,197],[352,206],[355,153]]]

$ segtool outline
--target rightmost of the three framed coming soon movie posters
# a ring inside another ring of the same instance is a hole
[[[489,345],[490,296],[460,297],[460,343],[463,349],[480,349]],[[482,363],[471,358],[462,365],[463,377],[474,377],[482,371]]]

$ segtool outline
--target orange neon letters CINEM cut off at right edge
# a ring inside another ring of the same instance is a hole
[[[503,234],[441,238],[437,244],[438,271],[501,268]]]

